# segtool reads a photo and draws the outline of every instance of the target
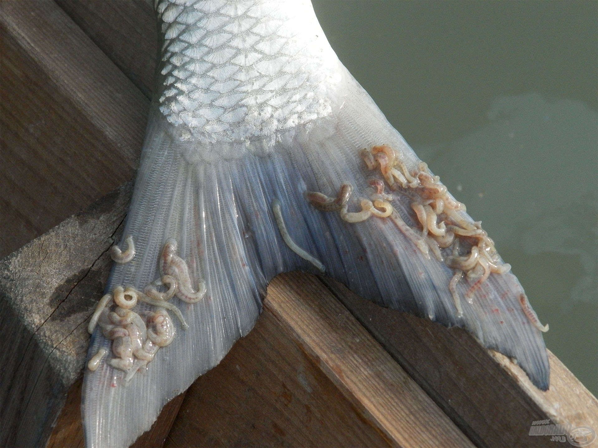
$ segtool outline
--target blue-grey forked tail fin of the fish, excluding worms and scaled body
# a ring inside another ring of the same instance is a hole
[[[334,197],[350,183],[349,209],[359,210],[374,175],[359,156],[362,148],[386,143],[416,160],[367,94],[348,85],[340,109],[273,141],[181,142],[154,109],[124,231],[133,236],[136,255],[115,266],[106,290],[117,285],[143,290],[159,277],[161,250],[174,238],[194,284],[204,279],[207,293],[193,304],[170,300],[189,329],[173,318],[172,344],[157,352],[145,372],[123,382],[123,372],[106,363],[110,354],[96,371],[86,370],[87,446],[132,444],[167,401],[216,366],[252,329],[271,278],[296,269],[318,274],[284,243],[271,209],[274,199],[292,240],[324,263],[326,275],[382,306],[467,329],[484,346],[516,359],[538,388],[548,388],[544,340],[521,310],[523,288],[511,272],[491,274],[471,304],[462,300],[459,317],[448,287],[451,269],[434,256],[426,259],[390,220],[347,223],[306,200],[306,191]],[[399,198],[393,205],[414,226],[408,201]],[[460,283],[461,296],[468,286]],[[96,328],[89,356],[101,347],[109,351],[110,342]]]

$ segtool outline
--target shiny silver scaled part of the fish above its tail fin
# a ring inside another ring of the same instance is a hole
[[[306,2],[160,0],[156,8],[160,111],[179,138],[250,139],[332,111],[336,57],[318,22],[305,20]]]

